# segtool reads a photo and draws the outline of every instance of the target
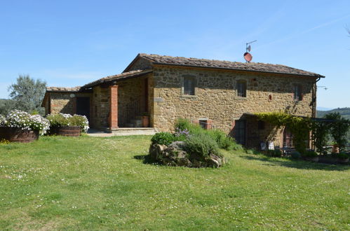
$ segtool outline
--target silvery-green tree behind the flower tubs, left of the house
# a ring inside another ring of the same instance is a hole
[[[8,87],[10,97],[15,109],[27,111],[28,113],[39,112],[43,114],[41,102],[46,91],[46,82],[34,80],[29,75],[20,75],[17,83]]]

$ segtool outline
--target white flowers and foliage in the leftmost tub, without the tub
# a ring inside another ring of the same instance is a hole
[[[40,115],[30,115],[25,111],[13,110],[6,117],[0,115],[0,126],[18,127],[22,130],[37,130],[43,135],[50,127],[50,123]]]

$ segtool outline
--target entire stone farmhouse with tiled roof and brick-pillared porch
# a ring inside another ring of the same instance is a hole
[[[278,64],[139,54],[115,76],[82,87],[48,87],[42,106],[46,114],[86,115],[90,127],[115,133],[173,131],[177,118],[188,118],[248,147],[261,141],[291,146],[288,128],[272,131],[254,113],[316,117],[320,78],[324,76]],[[149,128],[135,128],[142,127],[142,116]]]

